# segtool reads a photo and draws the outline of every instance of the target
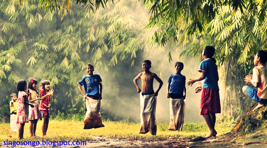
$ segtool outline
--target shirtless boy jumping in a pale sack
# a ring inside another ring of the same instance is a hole
[[[151,61],[144,60],[142,62],[142,69],[144,72],[139,73],[133,80],[137,93],[142,92],[140,95],[140,106],[141,106],[141,129],[139,133],[148,133],[156,135],[156,96],[158,96],[159,90],[161,89],[163,82],[155,74],[149,71],[151,68]],[[137,80],[141,78],[142,80],[142,91],[137,85]],[[159,82],[159,88],[154,92],[153,81],[156,79]]]

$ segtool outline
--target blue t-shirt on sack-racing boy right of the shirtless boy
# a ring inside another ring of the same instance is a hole
[[[170,93],[184,94],[185,76],[178,73],[170,74],[168,84],[170,84]]]

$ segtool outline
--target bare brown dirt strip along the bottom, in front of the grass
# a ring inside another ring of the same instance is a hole
[[[12,145],[0,145],[0,148],[12,147]],[[16,146],[23,148],[32,148],[32,146]],[[38,145],[36,148],[48,148],[53,146]],[[56,146],[59,147],[59,146]],[[225,147],[267,147],[267,136],[262,132],[256,132],[246,136],[234,135],[227,133],[215,138],[208,138],[202,141],[194,141],[188,138],[181,139],[160,139],[160,140],[146,140],[146,141],[129,141],[129,140],[114,140],[101,137],[94,137],[93,141],[87,141],[86,145],[74,146],[63,145],[61,147],[66,148],[94,148],[94,147],[108,147],[108,148],[128,148],[128,147],[140,147],[140,148],[154,148],[154,147],[170,147],[170,148],[225,148]]]

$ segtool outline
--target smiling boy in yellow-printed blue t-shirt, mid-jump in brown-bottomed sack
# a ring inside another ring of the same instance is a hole
[[[88,75],[82,77],[82,80],[77,82],[78,88],[86,98],[87,112],[84,120],[84,129],[104,127],[100,111],[100,100],[102,99],[102,80],[100,75],[93,74],[94,66],[87,64],[85,71]],[[82,91],[84,86],[85,93]]]

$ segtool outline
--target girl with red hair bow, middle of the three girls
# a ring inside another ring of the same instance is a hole
[[[42,114],[39,110],[39,102],[38,102],[38,99],[41,100],[42,98],[37,97],[39,96],[39,93],[36,90],[36,87],[37,87],[37,80],[30,79],[28,82],[27,95],[29,103],[34,105],[34,108],[29,108],[29,117],[28,117],[30,120],[30,134],[32,138],[38,137],[35,135],[36,125],[38,119],[42,119]],[[39,87],[40,89],[42,88],[41,85]]]

